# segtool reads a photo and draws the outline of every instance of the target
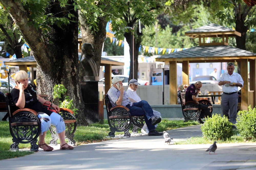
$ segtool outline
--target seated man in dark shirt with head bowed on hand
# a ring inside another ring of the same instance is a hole
[[[203,124],[204,122],[202,121],[201,118],[204,118],[204,116],[209,116],[211,117],[211,112],[208,109],[208,106],[205,104],[200,104],[197,100],[196,100],[196,96],[200,91],[200,88],[202,87],[202,82],[201,81],[197,81],[194,84],[190,84],[190,86],[188,86],[186,94],[185,94],[185,101],[195,101],[198,103],[200,109],[201,109],[201,113],[200,116],[198,118],[198,121]]]

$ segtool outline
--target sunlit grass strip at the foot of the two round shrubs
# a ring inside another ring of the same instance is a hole
[[[238,130],[233,129],[234,134],[233,136],[231,136],[231,138],[227,139],[227,140],[217,140],[217,143],[244,143],[244,139],[241,136],[237,136]],[[204,137],[191,137],[188,138],[185,141],[177,141],[174,142],[174,144],[208,144],[208,143],[213,143],[213,140],[208,140]],[[248,143],[255,143],[255,141],[246,141]]]

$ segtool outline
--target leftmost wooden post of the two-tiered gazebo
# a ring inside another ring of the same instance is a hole
[[[177,103],[177,61],[169,61],[170,104]]]

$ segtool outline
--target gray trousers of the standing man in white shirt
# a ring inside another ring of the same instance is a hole
[[[229,122],[235,124],[237,122],[237,103],[238,103],[238,94],[222,94],[221,95],[221,110],[222,116],[225,115],[228,117]],[[228,114],[229,111],[229,114]]]

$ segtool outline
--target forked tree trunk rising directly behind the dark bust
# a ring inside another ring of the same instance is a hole
[[[90,24],[86,22],[86,19],[83,18],[82,13],[79,11],[79,21],[80,21],[80,30],[82,33],[82,43],[91,43],[94,48],[94,57],[92,59],[97,65],[98,72],[100,71],[100,61],[101,61],[101,52],[102,45],[106,37],[106,25],[107,21],[105,18],[98,18],[98,31],[90,30]],[[99,76],[99,75],[98,75]]]

